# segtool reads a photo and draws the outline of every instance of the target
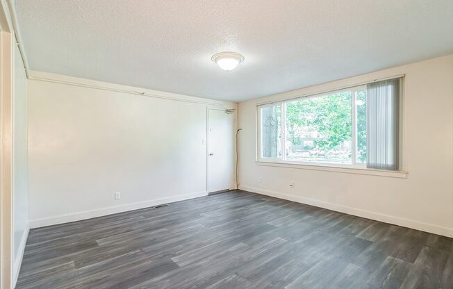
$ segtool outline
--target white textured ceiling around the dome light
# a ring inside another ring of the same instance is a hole
[[[243,101],[453,53],[452,0],[16,0],[29,68]],[[211,61],[237,51],[224,72]]]

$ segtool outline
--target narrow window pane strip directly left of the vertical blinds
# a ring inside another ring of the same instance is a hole
[[[366,90],[356,91],[356,163],[366,163]]]

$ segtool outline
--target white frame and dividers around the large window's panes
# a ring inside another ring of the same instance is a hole
[[[338,90],[329,90],[326,92],[319,92],[315,94],[305,95],[302,97],[293,97],[290,99],[282,99],[279,101],[272,101],[267,104],[257,104],[256,105],[256,165],[265,165],[271,167],[291,167],[302,170],[318,170],[318,171],[327,171],[327,172],[343,172],[349,174],[368,174],[373,176],[388,176],[393,178],[407,178],[407,172],[404,170],[399,171],[390,171],[390,170],[375,170],[366,167],[364,163],[356,163],[356,129],[352,130],[352,163],[349,164],[338,164],[338,163],[322,163],[322,162],[304,162],[304,161],[293,161],[285,160],[285,140],[286,140],[286,131],[285,131],[285,122],[286,115],[285,113],[285,103],[287,101],[295,101],[297,99],[319,97],[329,93],[338,93],[343,91],[351,91],[351,117],[352,117],[352,126],[356,126],[356,91],[366,89],[367,83],[360,83],[359,85],[352,85],[347,88],[339,88]],[[402,97],[400,97],[400,108]],[[281,158],[263,158],[261,156],[261,144],[262,144],[262,134],[261,134],[261,108],[268,106],[281,106],[281,131],[282,131],[282,145],[281,145]],[[401,109],[402,110],[402,109]],[[402,125],[402,111],[400,111],[400,126]],[[400,140],[402,140],[402,133],[400,131]],[[402,144],[402,142],[400,142]],[[400,145],[401,146],[401,145]],[[402,146],[400,147],[402,149]],[[402,156],[402,154],[400,154]],[[401,165],[402,166],[402,165]]]

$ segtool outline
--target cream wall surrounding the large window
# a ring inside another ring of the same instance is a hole
[[[406,74],[406,179],[256,165],[256,104]],[[239,104],[240,188],[453,237],[453,56]],[[259,182],[262,177],[262,183]],[[289,183],[294,181],[295,188]]]

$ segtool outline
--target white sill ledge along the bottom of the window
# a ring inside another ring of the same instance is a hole
[[[302,163],[288,163],[288,162],[267,162],[259,160],[255,162],[256,165],[265,165],[270,167],[290,167],[293,169],[301,170],[315,170],[324,172],[341,172],[345,174],[368,174],[371,176],[386,176],[390,178],[406,179],[407,172],[404,171],[386,171],[386,170],[373,170],[361,167],[345,167],[343,165],[320,165],[320,164],[302,164]]]

